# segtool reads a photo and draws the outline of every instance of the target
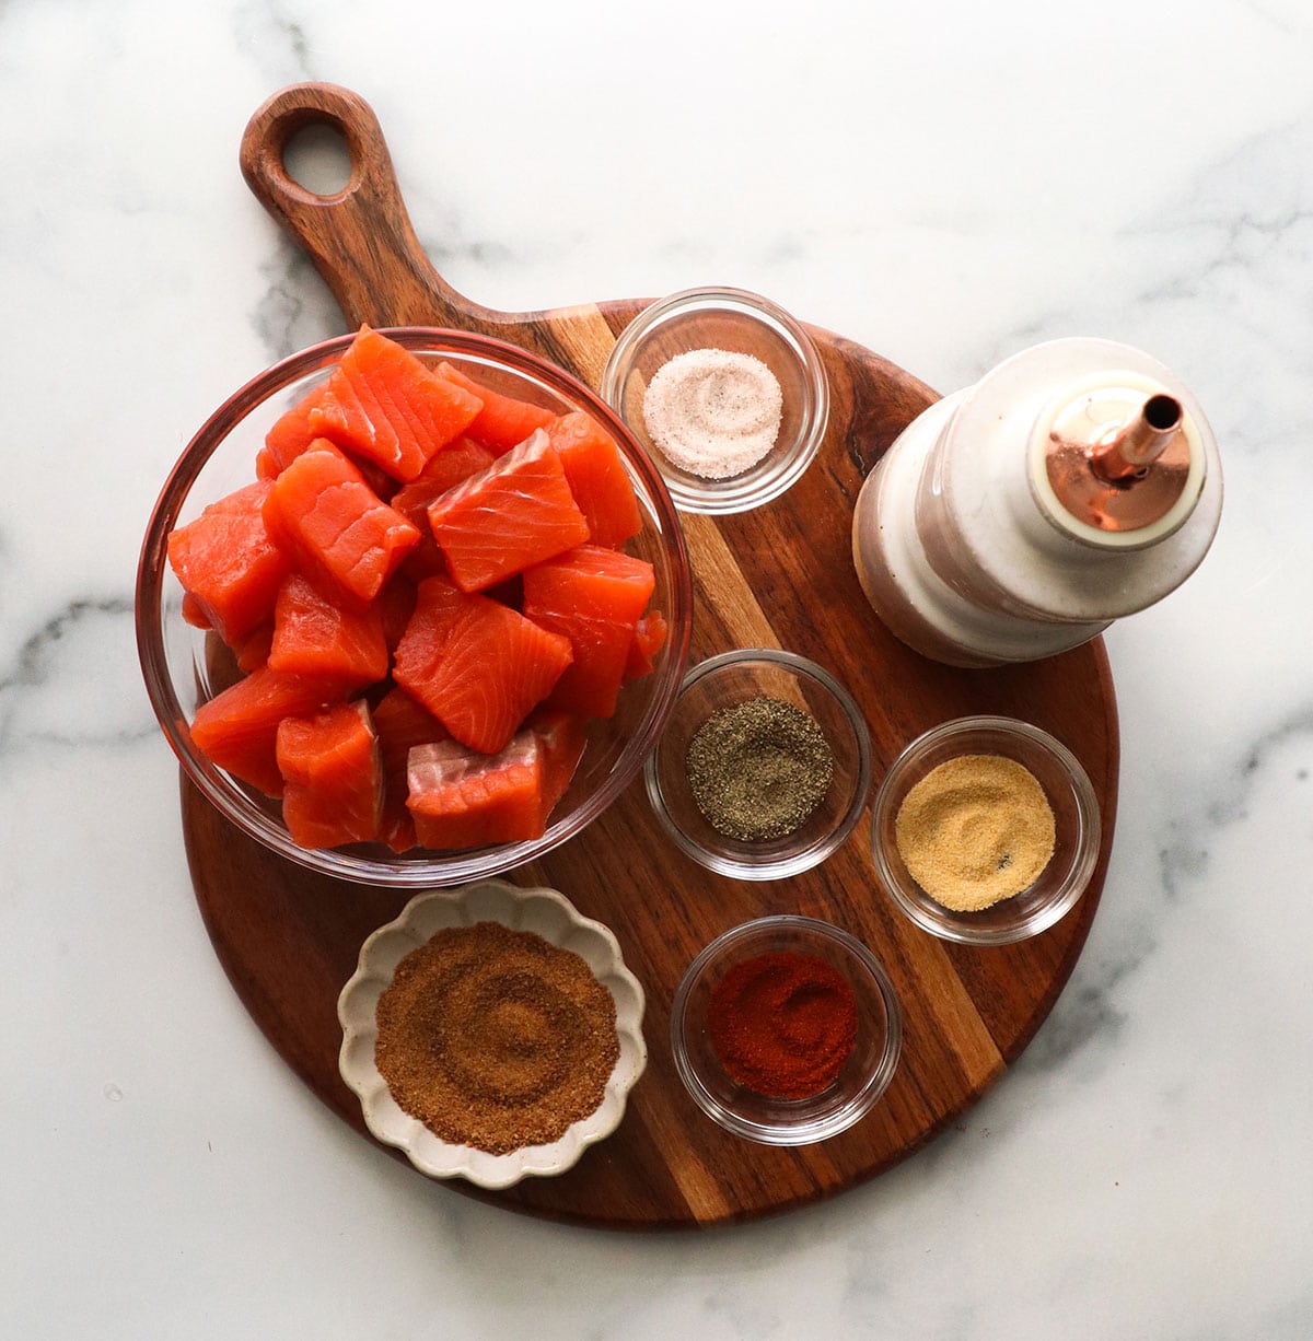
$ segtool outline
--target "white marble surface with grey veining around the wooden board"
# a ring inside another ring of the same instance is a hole
[[[192,430],[341,329],[237,172],[303,78],[372,102],[490,306],[738,283],[944,390],[1106,335],[1208,410],[1216,544],[1108,638],[1088,948],[1022,1063],[874,1183],[705,1236],[514,1216],[362,1143],[229,990],[133,578]],[[5,1336],[1313,1336],[1302,0],[9,0],[0,127]]]

